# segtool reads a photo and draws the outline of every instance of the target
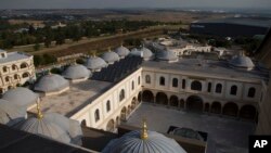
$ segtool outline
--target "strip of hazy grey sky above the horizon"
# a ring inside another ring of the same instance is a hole
[[[0,9],[266,8],[271,0],[0,0]]]

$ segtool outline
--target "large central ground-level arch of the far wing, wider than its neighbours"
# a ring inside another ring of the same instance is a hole
[[[186,100],[186,109],[194,112],[203,111],[203,99],[197,95],[191,95]]]

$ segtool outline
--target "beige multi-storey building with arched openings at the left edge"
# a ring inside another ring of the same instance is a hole
[[[35,81],[33,55],[0,50],[0,93],[26,81]]]

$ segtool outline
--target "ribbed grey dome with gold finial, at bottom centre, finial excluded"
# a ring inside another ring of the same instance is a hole
[[[112,140],[102,153],[186,153],[173,139],[155,131],[147,131],[142,140],[140,131],[131,131]]]

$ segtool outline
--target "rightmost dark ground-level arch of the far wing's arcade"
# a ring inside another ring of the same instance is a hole
[[[253,105],[244,105],[240,110],[240,117],[246,119],[256,119],[257,111]]]

